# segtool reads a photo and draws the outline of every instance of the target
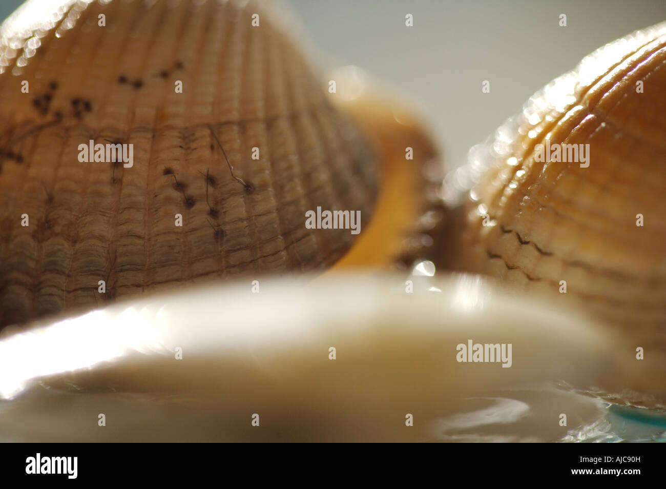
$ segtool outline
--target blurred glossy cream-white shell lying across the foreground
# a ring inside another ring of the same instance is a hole
[[[557,441],[607,410],[545,380],[614,392],[626,386],[620,373],[645,378],[603,326],[554,304],[480,276],[434,278],[441,292],[405,294],[402,283],[402,274],[282,277],[262,280],[258,296],[214,283],[40,321],[0,340],[0,440]],[[458,362],[468,338],[511,342],[511,368]],[[661,364],[646,362],[652,389],[663,389]],[[517,387],[531,382],[541,383]],[[468,412],[480,392],[527,415],[458,424],[447,436],[438,421]],[[572,413],[568,427],[550,422],[560,410]],[[100,412],[113,412],[113,429],[99,430]],[[406,412],[414,430],[404,429]]]

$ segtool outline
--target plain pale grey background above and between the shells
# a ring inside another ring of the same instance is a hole
[[[666,19],[665,0],[284,1],[317,49],[416,97],[450,166],[584,55]],[[0,0],[0,18],[20,3]]]

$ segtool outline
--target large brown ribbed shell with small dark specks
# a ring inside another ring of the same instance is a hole
[[[307,229],[306,211],[368,223],[373,152],[272,6],[30,7],[1,31],[0,326],[176,283],[324,268],[354,235]],[[133,166],[81,163],[89,140],[132,144]]]

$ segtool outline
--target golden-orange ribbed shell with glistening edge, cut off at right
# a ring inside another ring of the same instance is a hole
[[[598,49],[537,92],[470,151],[457,180],[478,184],[450,231],[450,264],[573,301],[632,334],[664,334],[665,87],[661,24]],[[547,144],[549,155],[553,145],[589,145],[587,162],[573,153],[540,162]]]

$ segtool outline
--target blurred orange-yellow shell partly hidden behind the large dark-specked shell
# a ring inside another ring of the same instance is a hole
[[[335,99],[336,105],[372,143],[381,191],[366,231],[324,276],[350,268],[407,270],[422,253],[436,248],[437,241],[444,241],[438,235],[448,217],[441,199],[442,157],[422,115],[408,100],[377,80],[356,83],[338,71],[334,76],[356,95],[352,100]],[[406,149],[413,160],[406,159]]]

